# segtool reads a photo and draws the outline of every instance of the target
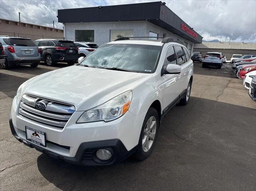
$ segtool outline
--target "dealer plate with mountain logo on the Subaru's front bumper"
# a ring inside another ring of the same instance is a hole
[[[26,139],[34,144],[46,147],[46,133],[26,126]]]

